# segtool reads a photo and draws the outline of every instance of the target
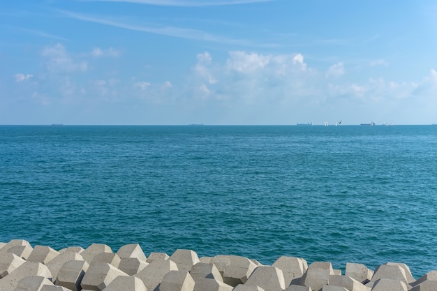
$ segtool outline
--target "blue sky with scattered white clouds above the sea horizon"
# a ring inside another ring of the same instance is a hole
[[[435,1],[0,3],[0,124],[437,124]]]

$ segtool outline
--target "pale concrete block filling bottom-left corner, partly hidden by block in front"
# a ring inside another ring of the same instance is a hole
[[[52,281],[50,270],[40,262],[24,262],[14,271],[0,280],[0,291],[11,291],[17,288],[18,283],[27,276],[43,276]]]

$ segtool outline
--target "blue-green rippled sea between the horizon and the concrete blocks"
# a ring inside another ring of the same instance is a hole
[[[417,279],[437,269],[437,126],[0,126],[0,209],[2,242]]]

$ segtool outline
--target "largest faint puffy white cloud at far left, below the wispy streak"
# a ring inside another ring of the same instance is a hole
[[[49,71],[55,72],[75,72],[86,71],[87,61],[75,61],[66,51],[66,47],[58,43],[52,47],[45,47],[41,53],[45,58],[45,64]]]

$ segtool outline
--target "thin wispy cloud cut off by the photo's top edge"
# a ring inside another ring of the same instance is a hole
[[[248,3],[269,2],[273,0],[228,0],[228,1],[205,1],[205,0],[79,0],[79,1],[105,1],[105,2],[128,2],[155,6],[186,6],[186,7],[201,7],[201,6],[223,6],[237,5]]]

